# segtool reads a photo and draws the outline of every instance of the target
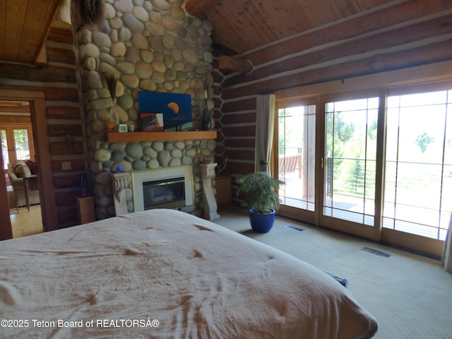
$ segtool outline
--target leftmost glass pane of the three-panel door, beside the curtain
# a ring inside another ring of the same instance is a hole
[[[316,105],[278,109],[279,196],[285,206],[315,210]]]

